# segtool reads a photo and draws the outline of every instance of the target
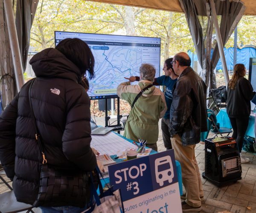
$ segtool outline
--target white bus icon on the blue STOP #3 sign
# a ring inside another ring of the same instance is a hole
[[[172,183],[174,172],[172,167],[171,156],[167,155],[162,158],[157,158],[155,160],[155,174],[157,183],[160,186],[163,186],[164,181]]]

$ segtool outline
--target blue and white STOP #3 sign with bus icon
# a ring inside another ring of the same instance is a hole
[[[125,213],[181,213],[174,151],[168,150],[108,167],[120,189]]]

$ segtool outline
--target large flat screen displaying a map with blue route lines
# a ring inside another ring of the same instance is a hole
[[[88,44],[95,58],[91,99],[116,98],[119,83],[127,81],[124,77],[139,76],[142,63],[152,64],[160,76],[160,38],[55,31],[55,45],[75,37]]]

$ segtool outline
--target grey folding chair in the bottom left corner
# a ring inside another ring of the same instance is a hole
[[[3,171],[3,169],[2,169]],[[1,176],[0,180],[2,183],[6,184],[6,186],[11,190],[9,192],[5,192],[0,194],[0,213],[16,213],[29,210],[30,212],[34,213],[31,208],[32,205],[18,202],[15,194],[12,190],[12,187],[8,184],[7,181]]]

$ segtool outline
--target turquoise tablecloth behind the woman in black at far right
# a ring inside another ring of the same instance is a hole
[[[227,127],[232,129],[232,126],[230,124],[230,119],[227,115],[227,109],[221,109],[218,115],[216,115],[216,118],[217,118],[217,122],[220,124],[220,127]],[[252,138],[255,138],[254,123],[255,123],[255,115],[254,116],[250,115],[249,124],[245,132],[245,135],[250,136]]]

